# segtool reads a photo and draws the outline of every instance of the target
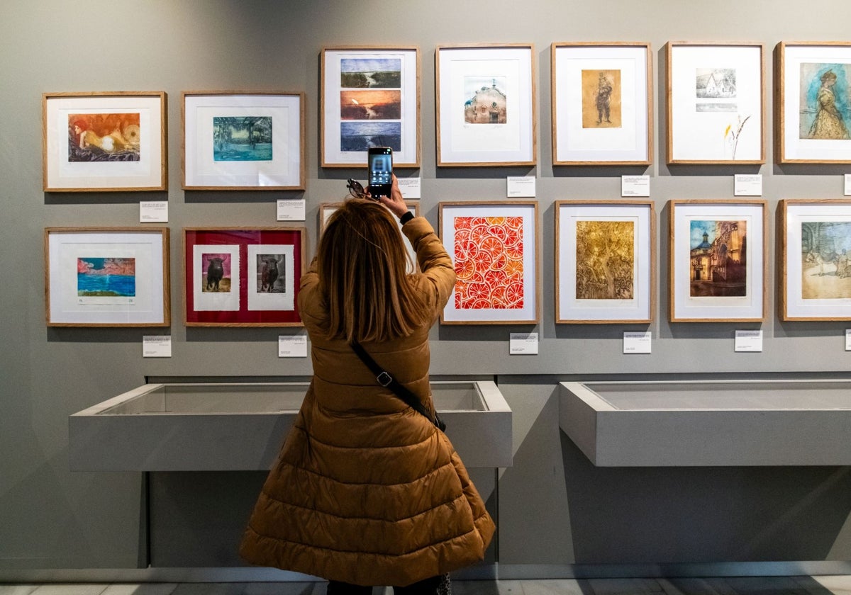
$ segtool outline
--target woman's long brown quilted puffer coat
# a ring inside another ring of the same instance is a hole
[[[403,232],[422,271],[410,279],[437,320],[454,285],[452,261],[426,219]],[[393,586],[481,560],[494,522],[446,435],[381,388],[345,341],[324,337],[327,312],[312,269],[301,279],[299,308],[314,376],[240,554],[328,580]],[[363,347],[433,411],[430,326]]]

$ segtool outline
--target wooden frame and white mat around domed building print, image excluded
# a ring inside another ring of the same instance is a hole
[[[766,309],[768,207],[753,200],[673,200],[670,205],[671,322],[762,322]],[[747,223],[746,288],[743,297],[691,297],[691,222]]]

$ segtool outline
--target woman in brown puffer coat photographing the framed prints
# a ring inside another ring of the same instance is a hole
[[[383,205],[383,206],[382,206]],[[403,223],[420,264],[407,252]],[[425,218],[390,197],[347,201],[301,278],[313,380],[243,537],[251,563],[328,579],[328,593],[434,593],[440,576],[480,560],[494,522],[453,446],[376,381],[357,340],[433,413],[429,329],[454,286]],[[403,588],[404,587],[404,588]]]

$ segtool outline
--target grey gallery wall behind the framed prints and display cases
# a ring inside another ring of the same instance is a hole
[[[431,334],[434,373],[493,375],[515,412],[515,465],[501,473],[499,497],[490,501],[500,523],[499,551],[494,553],[500,564],[528,567],[527,574],[540,575],[551,572],[546,568],[563,572],[570,564],[851,559],[848,468],[597,469],[559,432],[556,390],[559,380],[591,376],[825,377],[848,371],[851,355],[843,345],[848,323],[781,322],[774,314],[774,241],[768,250],[769,314],[762,325],[667,321],[667,201],[732,197],[734,173],[762,173],[769,237],[774,238],[780,199],[840,197],[847,168],[776,165],[770,100],[764,165],[668,167],[661,75],[664,45],[671,40],[762,42],[770,99],[776,44],[848,40],[851,3],[831,1],[814,10],[791,0],[7,0],[2,14],[0,573],[6,574],[0,579],[36,569],[135,568],[147,559],[143,479],[137,473],[71,473],[69,414],[138,386],[146,377],[310,374],[308,360],[277,358],[278,335],[298,329],[183,326],[180,229],[276,224],[275,200],[303,197],[312,252],[318,205],[339,200],[347,177],[363,178],[361,172],[318,166],[318,55],[324,45],[354,44],[420,47],[422,167],[403,175],[422,178],[421,208],[433,224],[439,201],[500,200],[507,175],[537,178],[544,256],[540,325],[443,326]],[[551,42],[558,41],[652,43],[650,167],[551,165],[549,52]],[[537,167],[437,169],[434,48],[467,42],[534,42]],[[225,89],[306,93],[306,191],[180,190],[180,93]],[[168,94],[168,191],[45,194],[42,94],[120,90]],[[624,173],[647,173],[651,179],[660,273],[654,322],[557,326],[553,203],[617,198]],[[135,225],[141,198],[169,204],[170,329],[45,326],[43,228]],[[734,331],[756,328],[764,331],[762,353],[735,354]],[[622,354],[623,331],[644,329],[653,333],[653,353]],[[540,354],[510,356],[508,333],[531,330],[540,333]],[[170,334],[173,356],[143,360],[141,337],[147,334]],[[184,479],[193,481],[191,474]],[[229,480],[241,481],[238,476]],[[154,487],[179,489],[171,487],[174,483],[162,479]],[[244,517],[242,510],[234,514],[237,521]],[[237,526],[237,521],[228,526]],[[197,526],[184,526],[189,542],[196,532],[207,536]],[[216,559],[208,561],[214,565]],[[204,565],[203,560],[193,564]]]

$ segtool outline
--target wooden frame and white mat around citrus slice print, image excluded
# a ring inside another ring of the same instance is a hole
[[[441,202],[438,204],[440,237],[457,268],[455,258],[456,218],[523,217],[523,308],[460,309],[456,307],[455,290],[443,309],[444,325],[465,324],[537,324],[540,320],[540,234],[538,202]],[[530,253],[531,252],[531,253]],[[456,286],[461,278],[456,280]],[[527,297],[531,297],[527,299]]]

